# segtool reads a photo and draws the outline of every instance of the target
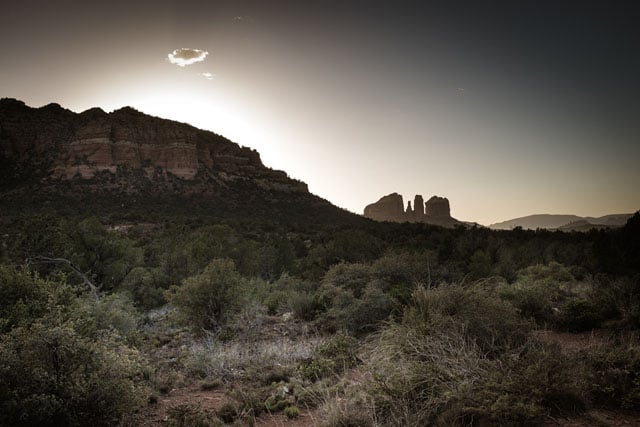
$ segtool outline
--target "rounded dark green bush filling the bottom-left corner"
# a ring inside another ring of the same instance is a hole
[[[0,425],[117,424],[140,407],[140,358],[106,333],[91,341],[54,319],[0,340]]]

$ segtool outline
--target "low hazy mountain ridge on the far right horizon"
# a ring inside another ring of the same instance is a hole
[[[494,230],[511,230],[516,227],[536,230],[588,231],[592,228],[622,227],[633,214],[611,214],[601,217],[578,215],[536,214],[514,218],[489,225]]]

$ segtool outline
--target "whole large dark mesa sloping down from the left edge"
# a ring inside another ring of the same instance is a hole
[[[125,107],[74,113],[0,100],[5,209],[199,209],[232,218],[363,221],[213,132]]]

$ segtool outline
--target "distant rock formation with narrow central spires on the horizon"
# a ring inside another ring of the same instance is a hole
[[[424,222],[427,224],[453,227],[462,225],[460,221],[451,217],[449,200],[446,197],[431,197],[426,203],[421,195],[416,195],[407,202],[407,209],[403,210],[404,202],[398,193],[382,197],[375,203],[364,208],[364,216],[376,221],[392,222]]]

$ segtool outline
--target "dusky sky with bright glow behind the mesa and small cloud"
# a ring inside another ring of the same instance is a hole
[[[634,1],[6,2],[0,97],[132,106],[255,148],[355,213],[640,209]]]

